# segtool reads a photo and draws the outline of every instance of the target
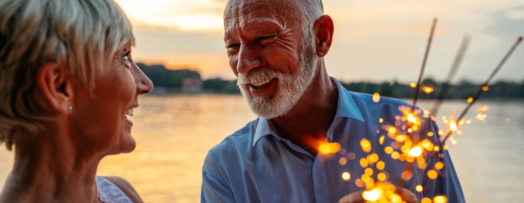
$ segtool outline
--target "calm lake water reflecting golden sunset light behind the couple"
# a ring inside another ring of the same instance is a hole
[[[468,202],[524,201],[524,101],[482,101],[485,121],[461,127],[450,153]],[[420,101],[431,108],[433,101]],[[465,101],[442,105],[440,117]],[[256,116],[241,95],[146,95],[132,117],[135,151],[108,156],[99,175],[125,177],[146,202],[199,202],[201,169],[209,149]],[[507,121],[509,118],[509,121]],[[0,189],[13,153],[0,149]]]

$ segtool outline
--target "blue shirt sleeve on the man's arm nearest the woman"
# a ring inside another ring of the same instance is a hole
[[[210,151],[202,167],[200,202],[236,202],[232,190],[227,186],[223,176],[217,171],[219,170],[216,161]]]

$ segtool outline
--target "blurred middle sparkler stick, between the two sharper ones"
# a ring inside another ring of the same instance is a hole
[[[444,98],[446,96],[447,89],[449,88],[450,81],[455,76],[455,73],[457,69],[459,69],[460,63],[462,62],[462,58],[464,57],[464,54],[466,53],[468,45],[470,45],[470,36],[465,35],[462,39],[462,43],[459,49],[459,52],[457,52],[457,55],[455,56],[455,60],[453,61],[453,64],[451,65],[450,72],[447,74],[446,80],[442,83],[442,86],[439,91],[439,95],[437,97],[437,100],[435,102],[435,105],[433,106],[433,109],[431,109],[430,113],[433,116],[436,116],[436,113],[440,109],[440,104],[442,104],[442,101],[444,101]]]

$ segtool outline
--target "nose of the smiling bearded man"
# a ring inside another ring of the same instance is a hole
[[[241,46],[238,52],[236,71],[239,74],[247,75],[253,68],[259,67],[262,64],[259,52],[260,50],[256,50],[254,47]]]

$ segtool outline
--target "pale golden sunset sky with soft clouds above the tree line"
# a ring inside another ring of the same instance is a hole
[[[137,38],[135,61],[199,70],[203,78],[233,79],[223,41],[225,0],[117,0]],[[522,0],[324,0],[335,24],[325,56],[331,76],[344,81],[417,79],[433,17],[438,17],[425,76],[443,79],[464,34],[472,37],[454,81],[487,78],[524,35]],[[524,80],[521,44],[495,80]]]

